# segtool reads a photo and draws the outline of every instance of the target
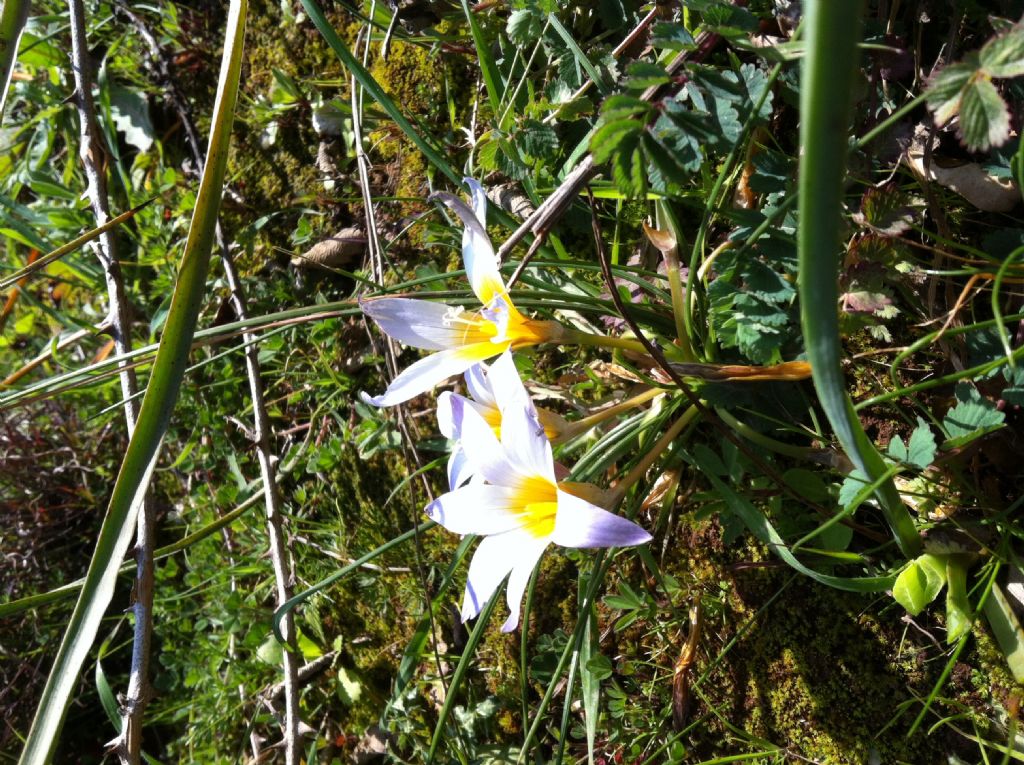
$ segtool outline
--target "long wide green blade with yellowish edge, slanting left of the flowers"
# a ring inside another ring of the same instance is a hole
[[[141,505],[184,376],[193,335],[206,291],[207,266],[220,209],[228,142],[242,70],[246,0],[231,0],[214,105],[210,148],[196,212],[181,256],[178,282],[135,431],[114,484],[96,549],[78,603],[46,681],[20,762],[46,763],[53,756],[72,693],[100,621],[114,595],[118,569],[135,530]]]

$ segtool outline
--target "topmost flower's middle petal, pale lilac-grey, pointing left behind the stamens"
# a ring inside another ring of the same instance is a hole
[[[414,348],[442,350],[490,339],[478,329],[476,313],[444,303],[382,297],[362,300],[359,307],[386,335]]]

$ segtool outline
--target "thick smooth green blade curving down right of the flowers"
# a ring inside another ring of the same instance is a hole
[[[854,0],[813,0],[807,4],[800,124],[800,254],[801,324],[814,388],[840,443],[870,480],[885,473],[886,465],[864,429],[846,393],[840,366],[839,244],[843,179],[849,148],[846,125],[861,4]],[[921,549],[913,519],[892,480],[878,492],[886,520],[908,557]]]

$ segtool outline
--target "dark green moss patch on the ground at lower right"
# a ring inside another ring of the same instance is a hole
[[[947,727],[907,737],[920,710],[913,699],[931,691],[945,656],[900,621],[898,608],[883,611],[886,601],[877,596],[795,578],[759,544],[726,549],[717,523],[688,521],[677,534],[685,552],[672,572],[697,591],[721,595],[717,602],[706,598],[711,626],[703,655],[717,656],[752,622],[700,686],[709,704],[693,716],[713,716],[692,739],[694,751],[708,757],[737,751],[734,741],[723,746],[732,734],[718,719],[817,762],[939,762],[951,753],[971,761],[977,755],[975,745]],[[694,676],[701,670],[698,664]],[[937,713],[948,713],[958,699],[966,704],[980,691],[976,681],[947,684],[950,699],[937,702]]]

